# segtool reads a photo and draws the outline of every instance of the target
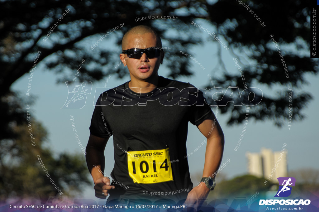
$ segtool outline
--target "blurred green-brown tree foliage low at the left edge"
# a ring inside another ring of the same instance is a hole
[[[54,158],[54,153],[43,145],[46,130],[34,120],[32,112],[29,114],[30,125],[11,122],[16,138],[0,140],[0,201],[38,197],[38,192],[56,191],[55,187],[69,196],[79,194],[90,183],[83,155],[61,153]]]

